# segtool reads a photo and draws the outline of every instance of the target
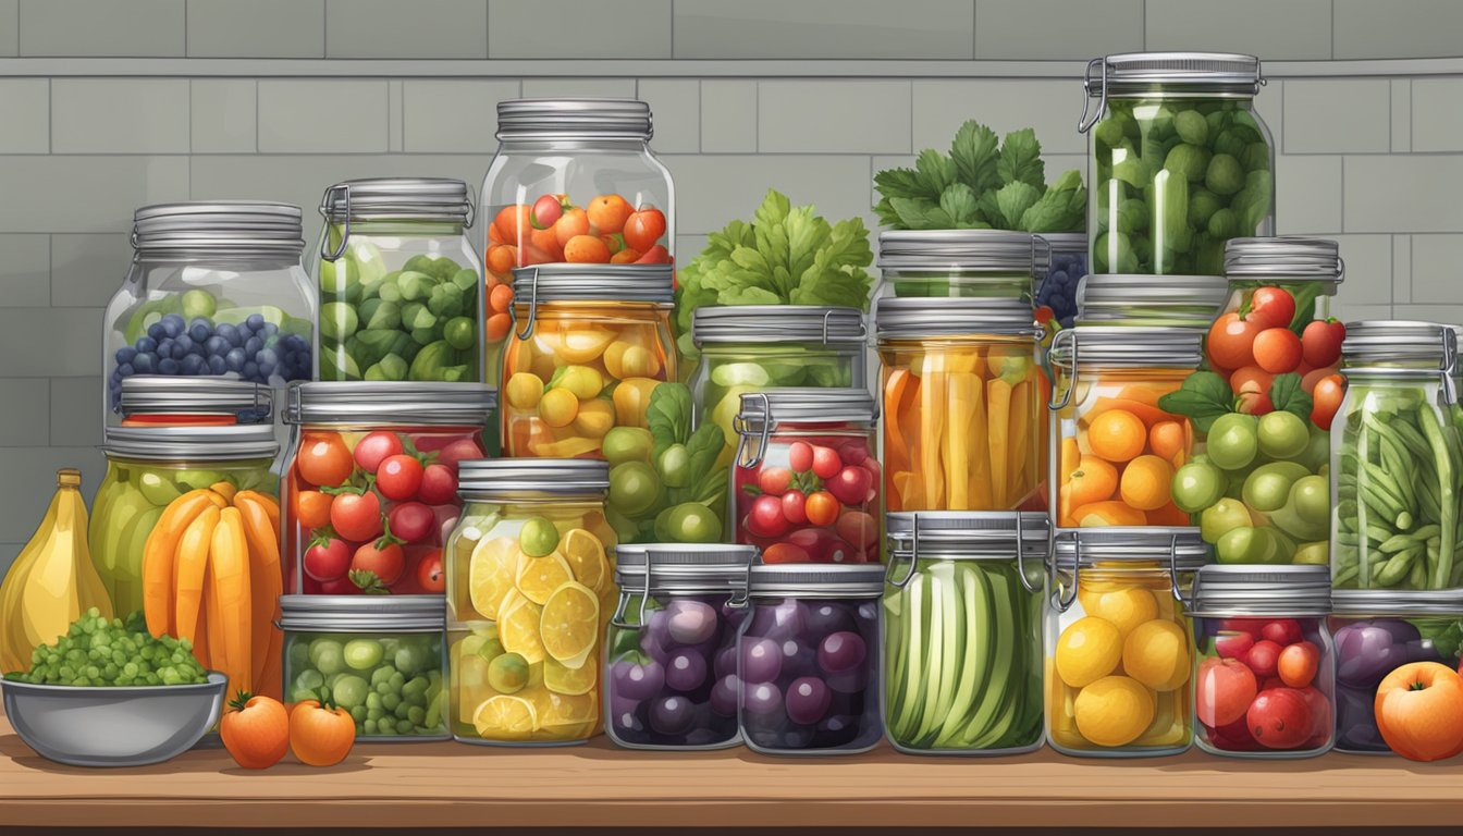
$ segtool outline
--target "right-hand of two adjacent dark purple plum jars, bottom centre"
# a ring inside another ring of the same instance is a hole
[[[755,565],[737,725],[759,754],[856,754],[879,723],[882,567]]]

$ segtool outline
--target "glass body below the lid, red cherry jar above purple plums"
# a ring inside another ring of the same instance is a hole
[[[767,564],[879,562],[881,469],[873,420],[780,422],[756,464],[733,466],[736,542]],[[827,476],[819,476],[825,473]]]

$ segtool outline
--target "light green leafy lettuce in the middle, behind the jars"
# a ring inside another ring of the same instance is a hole
[[[679,271],[676,344],[688,363],[699,351],[691,324],[704,305],[857,305],[868,310],[873,264],[860,218],[830,224],[815,206],[793,206],[774,189],[752,223],[732,221]],[[751,265],[751,266],[743,266]]]

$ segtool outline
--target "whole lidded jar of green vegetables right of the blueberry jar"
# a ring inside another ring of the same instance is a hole
[[[467,183],[347,180],[325,190],[320,215],[315,278],[322,381],[496,385],[484,369],[497,369],[506,303],[484,357],[483,266],[467,239]]]

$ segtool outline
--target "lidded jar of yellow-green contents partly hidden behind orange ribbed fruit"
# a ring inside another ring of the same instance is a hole
[[[102,452],[107,474],[92,499],[86,539],[119,618],[142,609],[143,546],[174,499],[219,483],[253,490],[271,507],[278,496],[269,467],[279,445],[268,425],[110,426]],[[278,507],[272,510],[278,515]]]

